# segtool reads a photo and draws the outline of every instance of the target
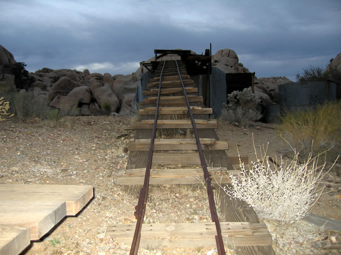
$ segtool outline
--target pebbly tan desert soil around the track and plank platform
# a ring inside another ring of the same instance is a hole
[[[105,235],[110,224],[133,223],[136,197],[115,184],[124,172],[128,154],[123,148],[133,140],[131,119],[118,116],[65,117],[59,127],[35,119],[27,123],[0,123],[0,183],[92,185],[94,198],[76,216],[62,220],[23,255],[127,255],[129,245]],[[274,124],[241,128],[219,121],[217,134],[227,139],[228,153],[247,154],[255,160],[256,147],[268,144],[268,155],[285,155],[288,146],[278,137]],[[324,192],[313,212],[340,220],[340,178],[331,171],[323,180]],[[150,188],[146,221],[210,221],[202,185],[167,185]],[[169,204],[172,206],[169,206]],[[339,245],[340,233],[322,230],[304,221],[267,224],[277,255],[339,254],[327,249]],[[210,249],[140,249],[139,254],[216,254]],[[227,254],[232,255],[229,247]]]

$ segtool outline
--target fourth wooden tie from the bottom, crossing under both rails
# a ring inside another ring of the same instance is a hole
[[[148,151],[150,139],[139,139],[130,141],[127,144],[129,151]],[[203,150],[228,150],[228,142],[225,140],[215,140],[200,138]],[[197,150],[195,139],[155,139],[155,151],[167,150]]]

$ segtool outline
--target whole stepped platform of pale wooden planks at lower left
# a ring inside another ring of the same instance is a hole
[[[19,254],[65,216],[75,216],[93,197],[93,188],[0,184],[0,194],[0,255],[7,255]]]

